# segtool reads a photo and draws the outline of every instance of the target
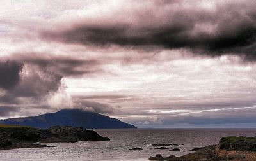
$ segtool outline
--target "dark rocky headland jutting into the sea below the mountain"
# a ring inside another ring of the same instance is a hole
[[[83,127],[54,126],[49,129],[32,127],[0,128],[0,150],[13,148],[40,148],[49,147],[39,143],[59,143],[77,141],[109,141],[97,132],[83,129]]]

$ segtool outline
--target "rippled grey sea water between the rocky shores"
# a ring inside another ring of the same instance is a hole
[[[224,136],[256,136],[256,129],[93,129],[111,141],[51,143],[53,148],[0,150],[0,160],[148,160],[161,153],[184,155],[191,148],[217,144]],[[166,146],[179,152],[155,150],[152,144],[182,144]],[[129,150],[140,147],[143,150]]]

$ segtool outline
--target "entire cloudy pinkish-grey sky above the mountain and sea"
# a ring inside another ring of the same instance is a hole
[[[0,118],[256,127],[256,1],[1,0]]]

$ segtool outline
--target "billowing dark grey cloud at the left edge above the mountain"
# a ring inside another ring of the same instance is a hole
[[[28,55],[23,59],[15,56],[1,57],[0,87],[4,94],[0,95],[0,102],[20,105],[40,102],[58,91],[63,78],[61,74],[40,63],[29,64],[28,60],[24,60],[29,59]]]

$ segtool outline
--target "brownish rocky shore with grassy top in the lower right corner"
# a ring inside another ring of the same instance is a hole
[[[196,151],[195,151],[196,150]],[[256,137],[223,137],[217,145],[195,148],[180,157],[157,154],[149,160],[166,161],[256,161]]]

